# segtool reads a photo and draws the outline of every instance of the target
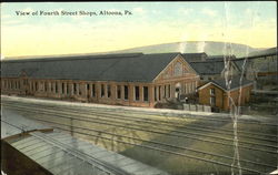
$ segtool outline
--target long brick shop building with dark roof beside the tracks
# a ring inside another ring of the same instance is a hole
[[[180,53],[127,53],[1,62],[1,94],[149,106],[195,92],[200,76]]]

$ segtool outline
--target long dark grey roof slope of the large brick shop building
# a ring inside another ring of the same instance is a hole
[[[126,53],[10,60],[1,62],[1,76],[32,79],[152,82],[178,55],[173,53]]]

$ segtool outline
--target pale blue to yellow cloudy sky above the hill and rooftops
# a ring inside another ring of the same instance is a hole
[[[181,41],[270,48],[277,45],[276,10],[276,1],[1,3],[1,56],[105,52]],[[99,16],[100,11],[122,16]]]

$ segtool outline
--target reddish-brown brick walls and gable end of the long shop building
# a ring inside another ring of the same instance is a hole
[[[180,72],[175,73],[176,64],[180,64]],[[20,89],[7,87],[2,80],[19,81]],[[80,102],[92,102],[117,105],[132,105],[153,107],[159,102],[173,99],[177,95],[176,87],[180,84],[180,94],[192,93],[199,84],[199,75],[181,58],[177,56],[165,70],[150,83],[143,82],[116,82],[116,81],[82,81],[82,80],[46,80],[28,79],[20,76],[17,79],[4,78],[1,80],[1,93],[21,94],[38,97],[50,97],[60,100],[72,100]],[[95,95],[92,86],[95,85]],[[125,99],[125,89],[128,86],[128,100]],[[103,86],[103,95],[101,95]],[[121,96],[117,97],[117,86],[121,87]],[[139,86],[139,99],[135,100],[135,86]],[[148,87],[148,101],[143,100],[143,86]],[[108,95],[108,87],[110,93]],[[158,91],[159,90],[159,91]],[[170,90],[170,91],[169,91]],[[155,94],[156,91],[156,94]]]

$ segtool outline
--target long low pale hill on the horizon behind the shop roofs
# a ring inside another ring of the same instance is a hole
[[[265,49],[251,48],[245,44],[231,43],[226,44],[226,48],[230,48],[231,54],[235,54],[237,58],[246,56],[246,53],[257,54]],[[26,55],[26,56],[12,56],[6,58],[10,59],[34,59],[34,58],[52,58],[52,56],[69,56],[69,55],[96,55],[96,54],[115,54],[115,53],[166,53],[166,52],[181,52],[181,53],[199,53],[206,52],[208,55],[222,55],[229,54],[229,52],[225,52],[225,42],[214,42],[214,41],[187,41],[187,42],[172,42],[172,43],[162,43],[139,48],[131,48],[125,50],[117,50],[110,52],[92,52],[92,53],[72,53],[72,54],[56,54],[56,55]],[[271,50],[272,51],[272,50]]]

